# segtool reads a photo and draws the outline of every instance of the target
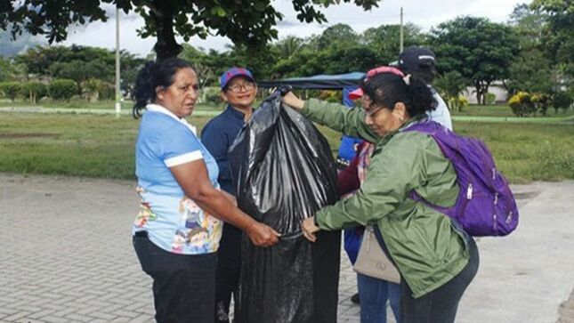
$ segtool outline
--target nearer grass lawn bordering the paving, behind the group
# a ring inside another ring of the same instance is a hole
[[[209,117],[190,117],[199,129]],[[574,179],[574,125],[455,121],[481,138],[511,182]],[[133,179],[132,117],[0,112],[0,172]],[[319,127],[336,151],[340,134]]]

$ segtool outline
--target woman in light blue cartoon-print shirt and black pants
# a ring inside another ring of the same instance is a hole
[[[133,116],[147,110],[135,147],[141,210],[133,246],[153,279],[156,320],[212,323],[222,221],[245,230],[258,246],[277,243],[278,233],[219,190],[214,157],[185,120],[198,99],[198,77],[189,63],[147,63],[133,96]]]

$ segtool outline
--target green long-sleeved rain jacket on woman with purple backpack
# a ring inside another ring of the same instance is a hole
[[[451,219],[408,198],[411,190],[438,206],[453,206],[457,174],[432,137],[397,131],[379,137],[365,125],[362,109],[311,99],[302,114],[344,134],[375,142],[365,181],[357,194],[321,208],[319,228],[340,230],[377,224],[392,260],[414,297],[441,287],[469,260],[467,236]]]

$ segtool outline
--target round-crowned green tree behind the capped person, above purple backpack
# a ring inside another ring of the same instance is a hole
[[[510,77],[510,65],[519,52],[513,28],[485,18],[460,17],[431,30],[440,72],[456,70],[473,82],[476,100],[495,80]]]

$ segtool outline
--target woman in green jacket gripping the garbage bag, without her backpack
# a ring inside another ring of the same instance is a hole
[[[436,141],[402,131],[434,109],[433,93],[423,81],[393,73],[370,77],[361,88],[363,109],[284,96],[288,106],[312,121],[376,143],[357,194],[306,219],[303,233],[315,241],[318,230],[376,224],[400,271],[402,321],[454,322],[458,302],[478,271],[478,250],[447,215],[409,198],[416,190],[434,205],[453,206],[459,188]]]

